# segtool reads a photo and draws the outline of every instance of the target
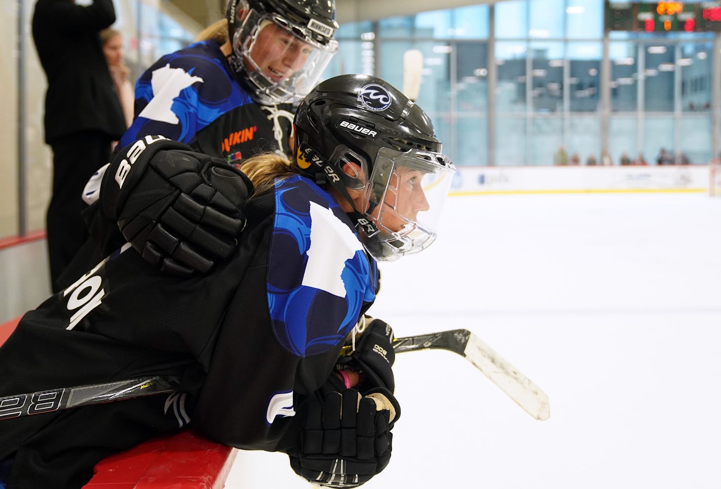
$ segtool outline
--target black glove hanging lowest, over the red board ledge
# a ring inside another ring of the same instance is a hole
[[[386,389],[361,397],[355,389],[330,392],[301,407],[301,446],[289,454],[296,474],[316,485],[355,488],[391,459],[391,428],[400,416]]]

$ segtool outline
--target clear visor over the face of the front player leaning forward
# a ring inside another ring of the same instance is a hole
[[[376,260],[395,260],[420,252],[436,237],[436,224],[446,201],[454,164],[430,151],[399,152],[381,148],[366,185],[362,206],[376,224],[376,234],[361,240]]]

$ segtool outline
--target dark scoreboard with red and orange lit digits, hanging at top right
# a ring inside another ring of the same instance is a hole
[[[701,3],[654,3],[606,0],[606,30],[634,32],[721,31],[721,0]]]

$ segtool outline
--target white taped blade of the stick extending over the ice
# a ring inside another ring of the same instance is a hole
[[[468,338],[464,354],[469,362],[500,387],[526,413],[538,420],[549,418],[551,410],[546,393],[476,335],[471,334]]]

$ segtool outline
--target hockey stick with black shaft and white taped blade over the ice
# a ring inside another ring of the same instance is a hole
[[[448,330],[393,340],[396,353],[442,349],[458,353],[537,420],[551,415],[548,396],[469,330]]]

